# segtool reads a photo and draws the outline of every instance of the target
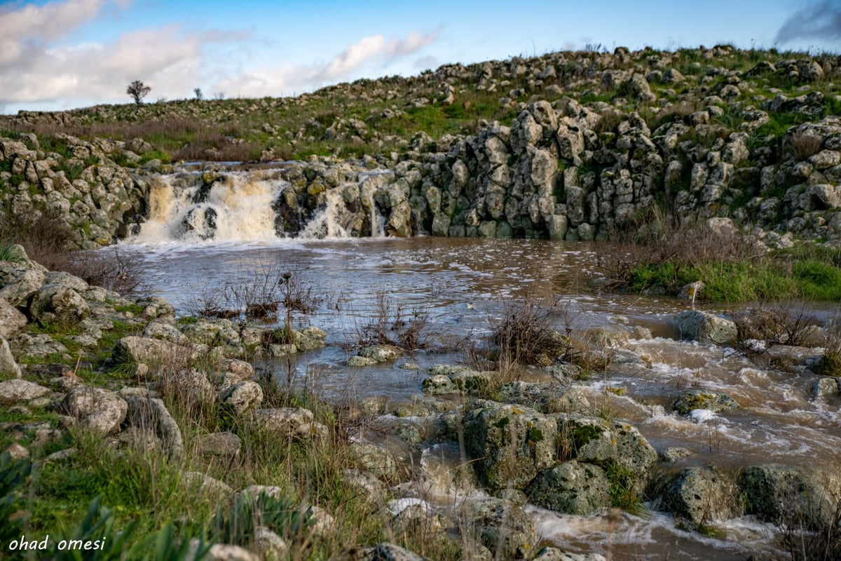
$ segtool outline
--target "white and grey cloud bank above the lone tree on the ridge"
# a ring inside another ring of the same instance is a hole
[[[0,105],[126,102],[125,85],[137,79],[153,88],[151,98],[188,96],[205,84],[208,93],[228,96],[279,95],[340,81],[371,63],[388,65],[436,40],[434,33],[417,31],[402,39],[374,34],[322,64],[261,68],[249,67],[237,54],[258,48],[247,30],[194,30],[175,23],[126,31],[109,42],[70,40],[130,3],[61,0],[0,7]]]

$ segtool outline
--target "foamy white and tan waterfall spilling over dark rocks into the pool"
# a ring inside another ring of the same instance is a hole
[[[296,191],[277,170],[160,176],[132,241],[383,237],[387,218],[375,203],[381,183],[360,177],[314,193]]]

